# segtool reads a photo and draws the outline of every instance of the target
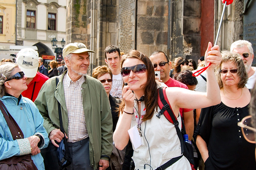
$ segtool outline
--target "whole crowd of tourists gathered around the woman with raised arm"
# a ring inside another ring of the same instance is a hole
[[[49,148],[61,149],[65,139],[66,169],[256,169],[256,67],[249,41],[222,52],[209,43],[197,62],[170,61],[161,50],[124,54],[110,45],[106,65],[95,67],[92,77],[91,53],[83,43],[70,43],[64,60],[51,61],[50,69],[31,48],[21,49],[15,63],[1,62],[0,168],[28,156],[35,168],[23,169],[60,169],[63,159]],[[178,124],[159,114],[161,88]],[[177,127],[186,128],[193,144],[193,166]]]

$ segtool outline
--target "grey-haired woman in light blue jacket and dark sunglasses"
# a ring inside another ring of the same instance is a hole
[[[24,139],[13,140],[9,126],[0,112],[0,162],[12,156],[31,155],[37,169],[44,169],[40,149],[46,148],[49,138],[43,127],[44,119],[30,99],[22,97],[27,89],[26,75],[18,64],[0,66],[0,100],[23,132]]]

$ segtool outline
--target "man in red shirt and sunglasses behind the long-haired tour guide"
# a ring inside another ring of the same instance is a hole
[[[153,63],[155,71],[160,71],[160,79],[168,87],[181,87],[188,89],[188,87],[185,84],[170,78],[169,72],[171,62],[169,62],[169,58],[164,52],[159,50],[155,51],[150,55],[149,59]],[[191,140],[194,133],[193,109],[180,108],[180,114],[183,117],[188,138],[189,140]]]

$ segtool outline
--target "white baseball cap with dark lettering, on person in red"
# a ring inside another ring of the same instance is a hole
[[[39,66],[38,53],[32,48],[23,48],[16,55],[16,63],[28,78],[34,78]]]

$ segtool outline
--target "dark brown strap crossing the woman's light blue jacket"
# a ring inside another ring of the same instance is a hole
[[[23,132],[21,131],[19,125],[14,120],[12,115],[8,112],[8,110],[5,107],[2,100],[0,100],[0,109],[2,111],[2,114],[4,115],[4,118],[5,118],[5,121],[6,121],[7,125],[9,126],[9,129],[12,133],[12,139],[13,140],[23,139],[24,138]]]

